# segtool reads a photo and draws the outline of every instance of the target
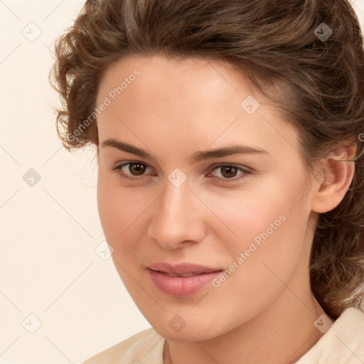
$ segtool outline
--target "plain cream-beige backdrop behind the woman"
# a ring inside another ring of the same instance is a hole
[[[82,4],[0,0],[1,364],[77,364],[150,327],[102,253],[95,151],[55,132],[50,48]]]

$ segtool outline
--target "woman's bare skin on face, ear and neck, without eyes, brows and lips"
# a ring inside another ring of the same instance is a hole
[[[323,335],[314,321],[325,312],[309,284],[318,213],[340,203],[353,165],[323,161],[324,173],[309,178],[296,129],[246,77],[215,61],[124,58],[105,73],[97,105],[135,68],[141,75],[97,118],[97,203],[125,287],[168,339],[173,364],[294,363]],[[252,115],[240,107],[248,95],[260,103]],[[109,138],[146,149],[156,161],[102,146]],[[232,144],[268,153],[190,161],[196,151]],[[333,157],[354,152],[341,148]],[[130,161],[149,167],[136,174],[124,166],[135,181],[112,171]],[[213,170],[219,164],[251,173]],[[175,168],[187,177],[179,187],[168,180]],[[223,183],[229,176],[235,181]],[[220,287],[173,297],[151,282],[146,266],[156,262],[228,269],[280,215],[284,223]],[[168,325],[176,314],[186,322],[178,333]]]

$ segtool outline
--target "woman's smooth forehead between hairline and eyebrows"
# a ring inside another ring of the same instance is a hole
[[[203,58],[123,58],[100,83],[97,103],[105,97],[111,102],[97,118],[100,140],[121,136],[139,146],[143,139],[163,140],[175,150],[181,141],[190,149],[246,141],[262,149],[281,150],[282,142],[287,144],[288,139],[294,144],[296,139],[293,127],[247,77]],[[242,107],[248,97],[258,102],[254,114]]]

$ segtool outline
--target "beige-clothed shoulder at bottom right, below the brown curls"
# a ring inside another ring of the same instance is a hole
[[[364,363],[364,312],[350,307],[295,364]]]

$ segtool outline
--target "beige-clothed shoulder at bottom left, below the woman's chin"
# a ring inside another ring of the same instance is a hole
[[[97,353],[82,364],[162,364],[164,342],[164,337],[154,328],[147,328]]]

